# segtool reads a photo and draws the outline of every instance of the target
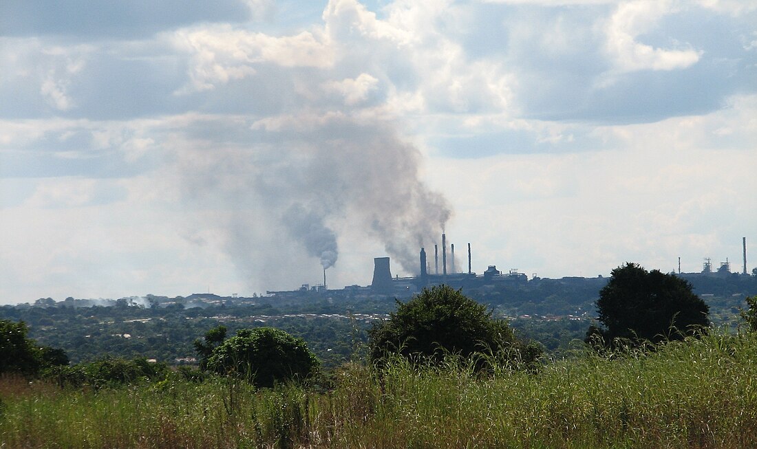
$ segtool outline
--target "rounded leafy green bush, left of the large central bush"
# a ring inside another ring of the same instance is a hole
[[[305,379],[319,364],[303,339],[273,327],[240,329],[214,348],[207,360],[209,370],[242,376],[259,387]]]

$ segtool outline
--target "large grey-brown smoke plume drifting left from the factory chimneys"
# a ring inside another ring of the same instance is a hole
[[[291,282],[286,271],[305,254],[332,267],[344,227],[418,271],[420,247],[435,241],[450,209],[420,180],[421,155],[391,122],[303,114],[243,130],[222,149],[180,152],[186,193],[231,210],[226,245],[243,274]]]

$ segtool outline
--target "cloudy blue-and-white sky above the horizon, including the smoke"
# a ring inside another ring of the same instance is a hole
[[[751,271],[755,174],[753,1],[0,2],[2,304]]]

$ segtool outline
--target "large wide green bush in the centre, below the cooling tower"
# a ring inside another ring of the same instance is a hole
[[[470,358],[510,351],[533,364],[541,355],[540,347],[517,341],[506,321],[493,319],[484,305],[450,286],[423,289],[409,302],[397,304],[389,320],[369,330],[372,361],[400,354],[438,363],[447,353]]]

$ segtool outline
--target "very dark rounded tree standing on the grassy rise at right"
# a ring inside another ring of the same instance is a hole
[[[601,336],[606,345],[615,339],[634,344],[683,339],[709,327],[709,306],[693,293],[687,280],[659,270],[646,271],[628,262],[612,270],[612,277],[600,290],[597,320],[587,342]]]

